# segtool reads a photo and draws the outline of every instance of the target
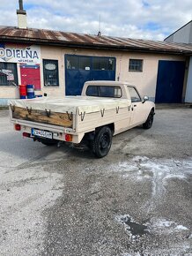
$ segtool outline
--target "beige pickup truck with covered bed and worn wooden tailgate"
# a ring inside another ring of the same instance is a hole
[[[120,81],[85,82],[81,96],[9,102],[11,122],[24,137],[55,145],[85,141],[97,157],[108,154],[112,137],[143,124],[151,128],[155,105]],[[60,142],[61,143],[61,142]]]

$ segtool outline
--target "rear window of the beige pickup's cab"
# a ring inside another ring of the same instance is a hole
[[[88,86],[86,88],[87,96],[95,97],[109,97],[109,98],[121,98],[121,87],[106,87],[106,86]]]

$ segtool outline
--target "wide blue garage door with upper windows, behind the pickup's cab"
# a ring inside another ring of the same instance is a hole
[[[115,58],[65,55],[65,94],[80,95],[89,80],[115,80]]]

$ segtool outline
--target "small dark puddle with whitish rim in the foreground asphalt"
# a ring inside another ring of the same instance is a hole
[[[132,236],[142,237],[145,234],[149,234],[147,226],[134,222],[129,215],[121,216],[118,221],[124,223],[125,229],[129,231]]]

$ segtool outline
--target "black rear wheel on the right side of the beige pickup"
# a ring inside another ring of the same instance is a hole
[[[112,144],[112,132],[108,126],[100,128],[92,140],[92,152],[101,158],[108,154]]]

